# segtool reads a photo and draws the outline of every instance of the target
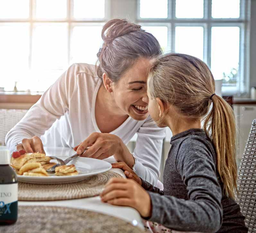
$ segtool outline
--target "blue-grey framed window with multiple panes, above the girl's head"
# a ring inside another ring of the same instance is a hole
[[[214,78],[222,80],[222,93],[242,95],[249,89],[248,2],[140,0],[137,22],[162,38],[164,52],[190,54],[206,62]]]

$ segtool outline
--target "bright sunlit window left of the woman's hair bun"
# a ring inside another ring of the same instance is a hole
[[[72,63],[94,64],[107,17],[108,0],[0,0],[0,87],[45,91]]]

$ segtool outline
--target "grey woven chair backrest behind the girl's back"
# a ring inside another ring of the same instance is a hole
[[[238,172],[237,201],[248,233],[256,232],[256,119],[252,121]]]

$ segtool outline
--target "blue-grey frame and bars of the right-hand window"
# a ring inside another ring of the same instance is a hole
[[[204,16],[203,18],[176,18],[176,0],[168,0],[167,18],[141,18],[140,0],[137,0],[137,19],[136,22],[142,26],[163,26],[168,25],[168,50],[175,51],[175,27],[176,26],[201,26],[204,29],[203,60],[211,66],[211,28],[236,26],[240,29],[239,36],[239,79],[236,87],[222,87],[222,93],[225,95],[244,96],[249,93],[249,17],[251,0],[240,0],[239,18],[212,18],[211,15],[212,0],[203,0]],[[169,31],[170,29],[170,31]]]

